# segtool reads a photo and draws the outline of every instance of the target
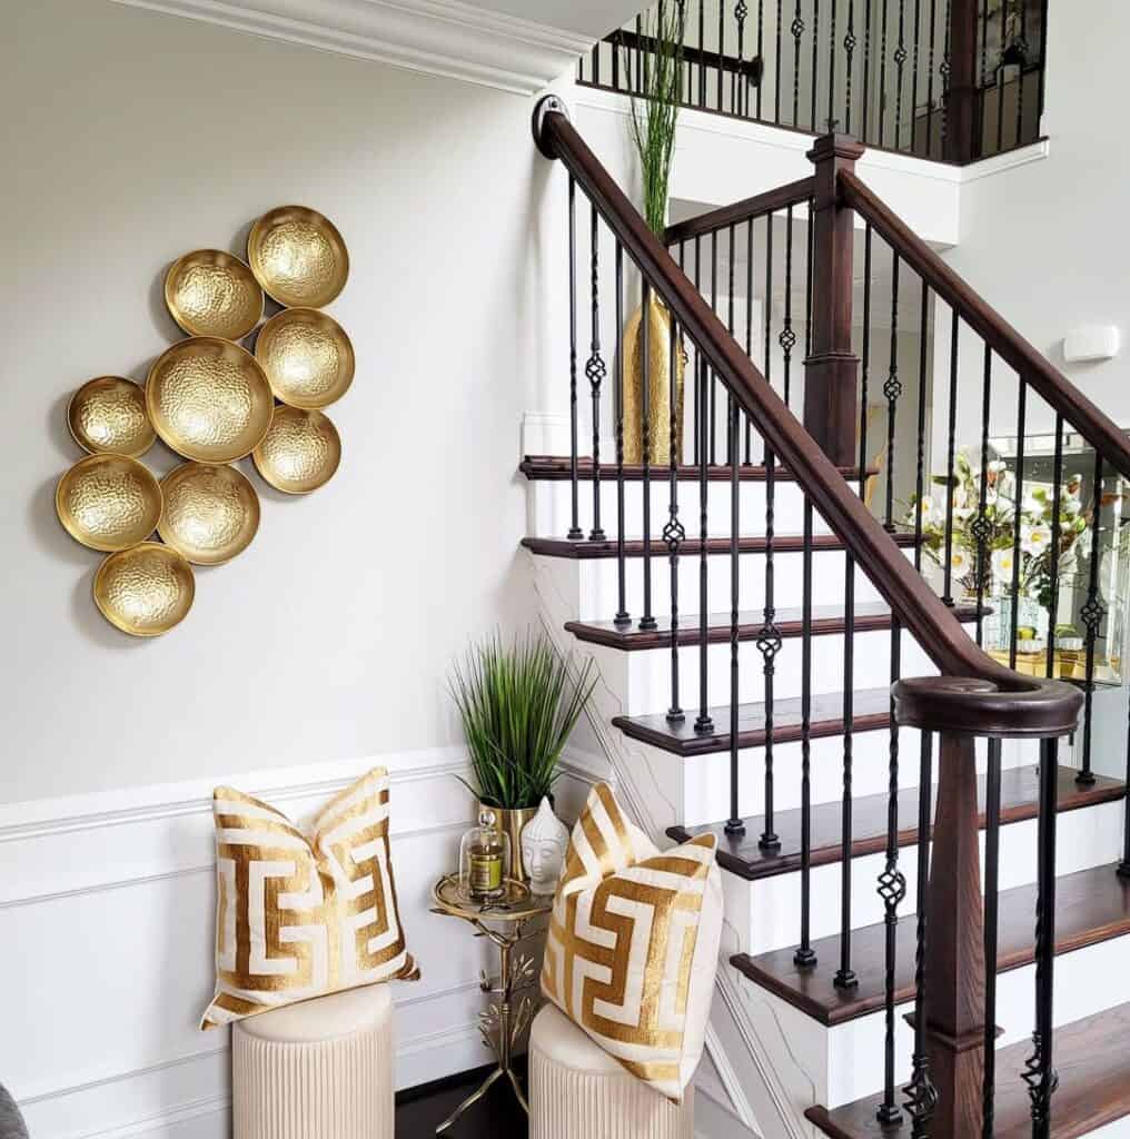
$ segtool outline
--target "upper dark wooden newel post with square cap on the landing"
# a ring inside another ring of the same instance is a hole
[[[851,346],[853,212],[840,199],[841,170],[863,153],[849,134],[825,134],[816,165],[812,226],[812,349],[804,361],[804,426],[837,466],[857,462],[859,358]]]

